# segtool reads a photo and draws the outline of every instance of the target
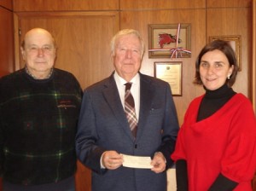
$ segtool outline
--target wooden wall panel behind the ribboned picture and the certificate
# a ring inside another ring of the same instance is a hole
[[[141,32],[146,51],[143,58],[141,72],[154,76],[154,61],[183,61],[182,96],[175,96],[179,123],[183,123],[184,113],[189,102],[195,96],[202,94],[202,88],[192,84],[195,77],[195,59],[199,51],[206,43],[206,12],[205,9],[177,9],[177,10],[144,10],[144,11],[122,11],[120,14],[121,28],[135,28]],[[191,24],[191,58],[148,58],[148,24]]]

